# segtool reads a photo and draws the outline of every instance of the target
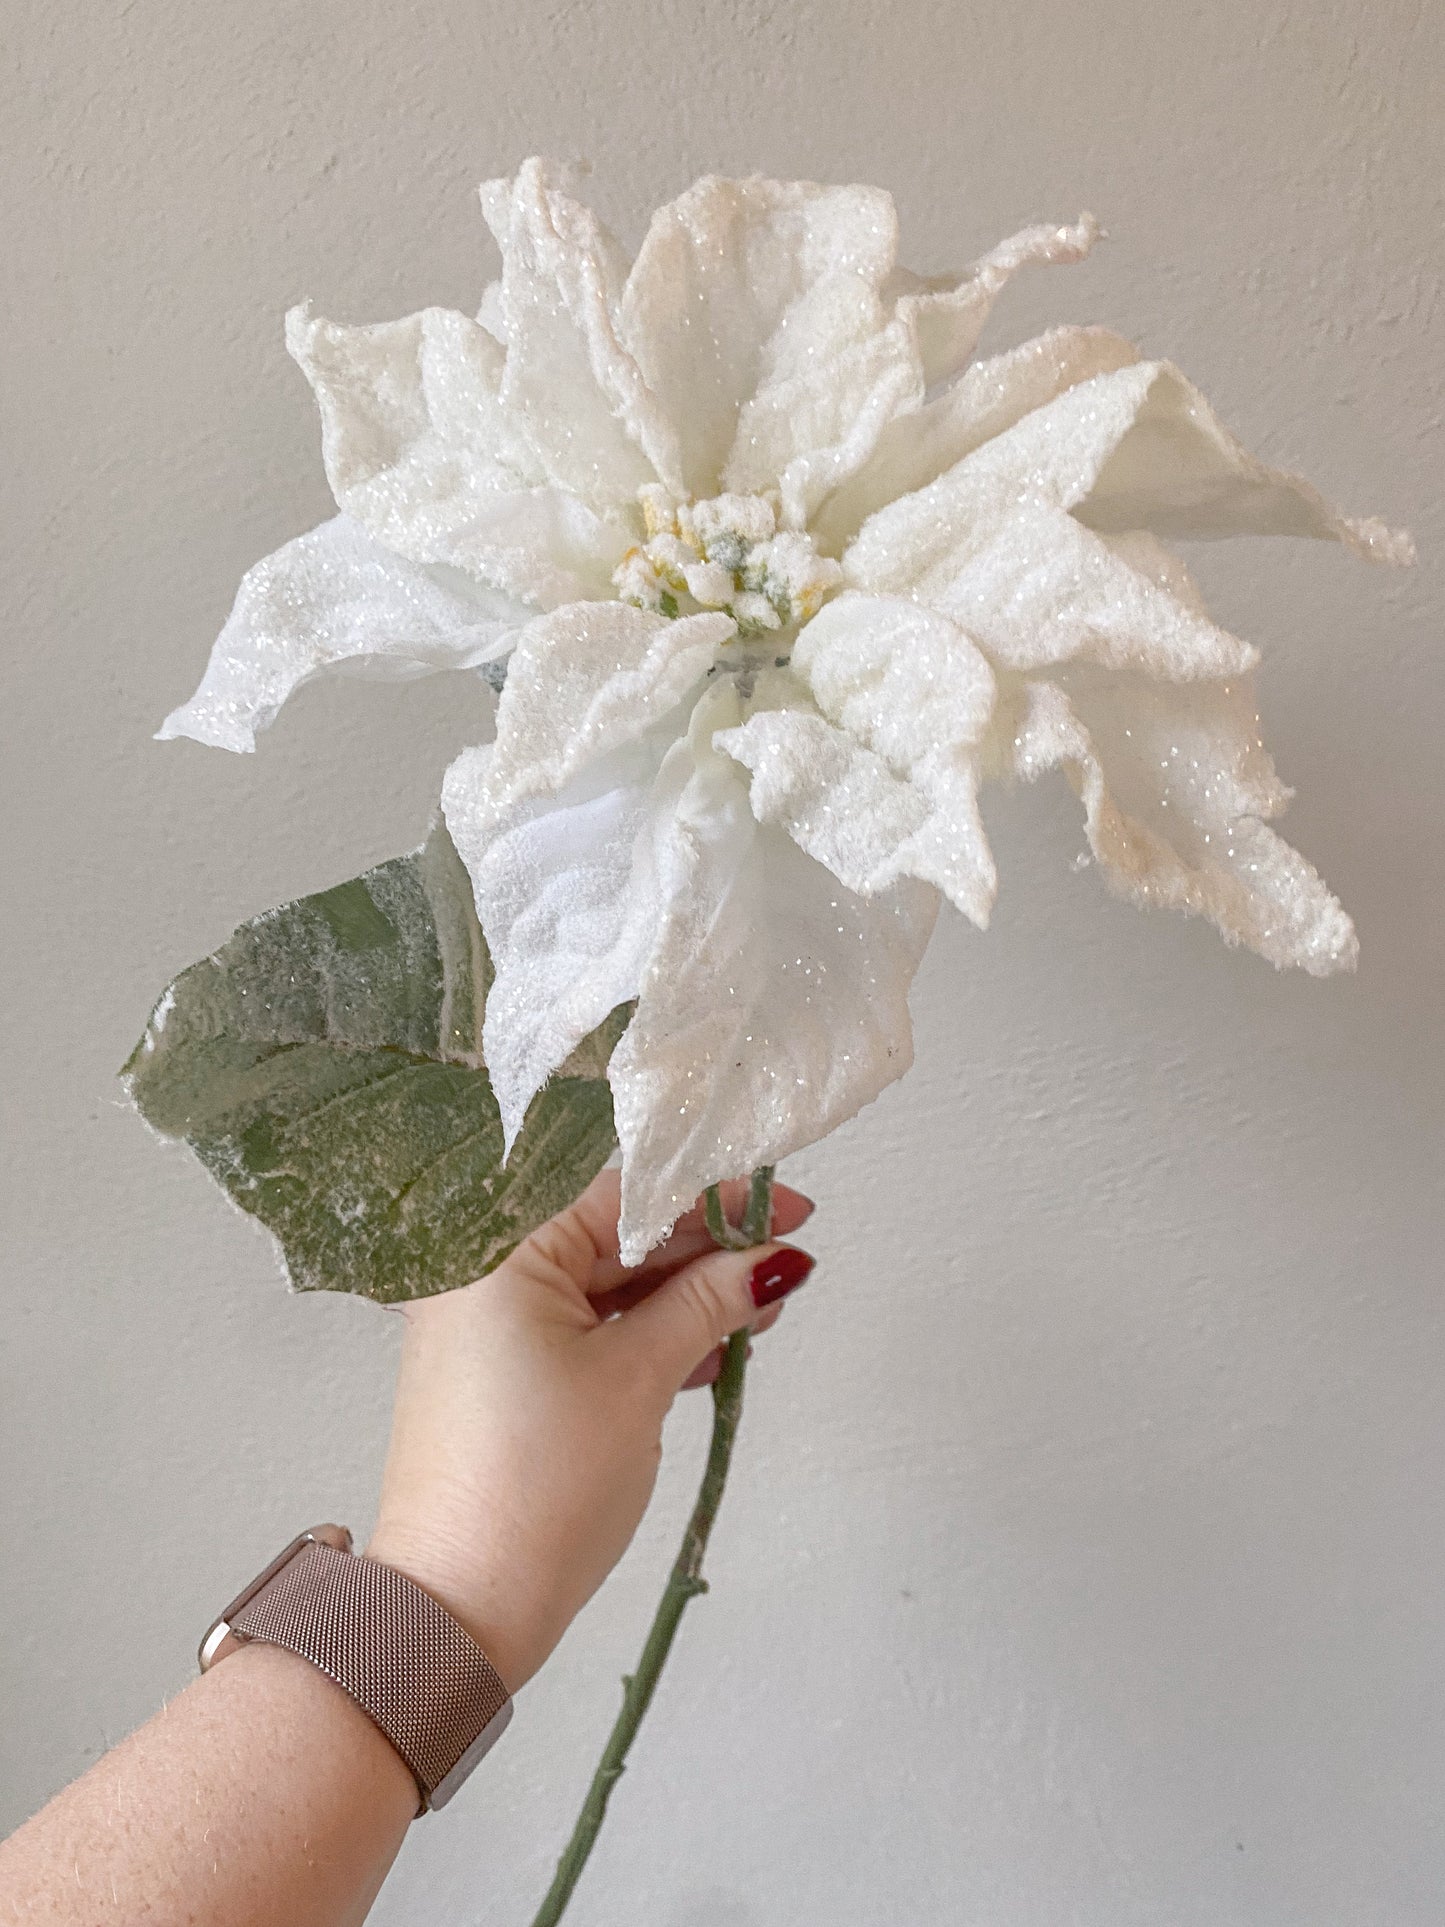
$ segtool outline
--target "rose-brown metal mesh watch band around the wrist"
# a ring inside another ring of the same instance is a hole
[[[333,1678],[410,1767],[420,1811],[451,1800],[512,1717],[476,1640],[422,1586],[353,1553],[343,1526],[314,1526],[252,1580],[206,1634],[202,1671],[227,1634]]]

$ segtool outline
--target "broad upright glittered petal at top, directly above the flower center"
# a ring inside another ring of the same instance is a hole
[[[786,407],[817,370],[809,407],[827,414],[834,387],[875,397],[894,374],[850,347],[888,324],[877,289],[894,264],[898,224],[873,187],[707,177],[659,208],[622,295],[622,333],[682,434],[682,470],[694,495],[776,484],[803,453],[786,441]],[[773,387],[753,424],[744,405]],[[873,405],[879,405],[877,401]],[[836,418],[813,447],[840,439]],[[759,447],[749,443],[757,436]],[[767,439],[767,459],[761,455]],[[722,482],[730,476],[749,480]]]

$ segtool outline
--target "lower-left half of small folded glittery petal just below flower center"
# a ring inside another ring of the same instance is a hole
[[[803,709],[759,711],[719,730],[715,744],[751,773],[757,821],[776,823],[850,890],[877,896],[917,877],[988,921],[992,863],[971,773],[958,771],[954,807],[940,807],[936,790],[896,777],[873,750]]]

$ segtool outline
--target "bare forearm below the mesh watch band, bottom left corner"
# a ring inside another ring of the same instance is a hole
[[[341,1688],[249,1646],[0,1844],[0,1921],[355,1927],[414,1811]]]

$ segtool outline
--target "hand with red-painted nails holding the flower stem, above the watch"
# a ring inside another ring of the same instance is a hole
[[[724,1185],[734,1222],[746,1185]],[[813,1204],[778,1185],[775,1229]],[[368,1557],[426,1586],[516,1692],[626,1551],[663,1418],[767,1330],[813,1260],[717,1251],[701,1206],[636,1270],[617,1258],[618,1174],[487,1278],[405,1307],[407,1339]]]

